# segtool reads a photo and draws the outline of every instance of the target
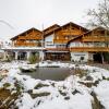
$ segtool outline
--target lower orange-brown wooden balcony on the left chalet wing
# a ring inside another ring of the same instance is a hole
[[[21,46],[24,46],[24,47],[41,47],[41,45],[36,44],[36,43],[14,43],[14,46],[15,47],[21,47]]]

